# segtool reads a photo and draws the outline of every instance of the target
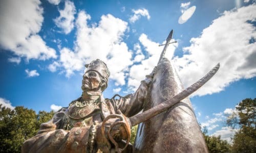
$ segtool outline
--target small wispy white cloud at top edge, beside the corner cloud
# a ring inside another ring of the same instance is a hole
[[[54,19],[58,28],[62,29],[65,34],[69,34],[74,28],[74,14],[76,8],[73,2],[65,1],[65,8],[59,10],[60,16]]]

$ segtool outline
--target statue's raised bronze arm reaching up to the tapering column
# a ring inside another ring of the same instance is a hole
[[[139,113],[146,103],[147,92],[151,82],[152,75],[146,75],[146,79],[141,81],[141,84],[135,93],[124,97],[115,95],[110,99],[115,111],[120,110],[127,117]]]

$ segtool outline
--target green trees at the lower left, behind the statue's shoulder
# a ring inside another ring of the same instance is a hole
[[[39,111],[17,106],[15,109],[0,105],[0,152],[20,152],[25,140],[36,135],[39,125],[47,122],[54,112]]]

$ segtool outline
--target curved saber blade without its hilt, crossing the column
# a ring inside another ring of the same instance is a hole
[[[202,87],[207,81],[209,81],[211,79],[211,77],[214,76],[214,74],[218,71],[219,68],[220,68],[220,63],[218,63],[214,68],[212,68],[198,82],[196,82],[193,85],[191,85],[190,87],[186,88],[179,94],[175,95],[174,97],[170,98],[169,100],[164,101],[163,103],[157,105],[156,107],[146,110],[145,112],[143,112],[141,114],[137,114],[137,115],[130,117],[129,120],[130,120],[131,126],[137,125],[141,122],[151,119],[152,117],[162,113],[163,111],[167,110],[168,108],[179,103],[182,99],[186,98],[191,93],[195,92],[200,87]]]

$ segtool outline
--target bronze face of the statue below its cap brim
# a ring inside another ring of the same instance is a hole
[[[100,86],[100,74],[97,71],[87,71],[83,74],[82,90],[92,91]]]

